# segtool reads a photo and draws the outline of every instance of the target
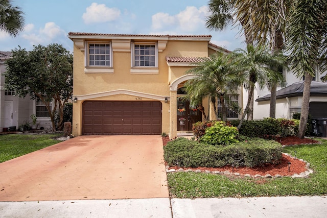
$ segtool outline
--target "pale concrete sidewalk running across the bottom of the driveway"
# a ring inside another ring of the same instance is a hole
[[[327,197],[0,202],[1,217],[326,217]]]

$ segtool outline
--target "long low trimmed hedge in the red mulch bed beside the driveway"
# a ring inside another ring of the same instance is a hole
[[[164,147],[164,158],[168,165],[179,167],[222,167],[232,164],[254,167],[265,163],[279,163],[282,145],[273,140],[253,139],[216,147],[177,138]]]

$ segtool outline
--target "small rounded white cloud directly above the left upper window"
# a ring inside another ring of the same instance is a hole
[[[104,4],[98,5],[97,3],[92,3],[86,8],[86,12],[82,18],[86,24],[90,24],[116,20],[120,15],[121,11],[119,9],[108,8]]]

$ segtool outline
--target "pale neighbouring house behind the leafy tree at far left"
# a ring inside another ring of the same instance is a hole
[[[22,99],[14,92],[5,90],[5,61],[11,58],[11,52],[0,52],[0,132],[16,130],[24,123],[32,122],[31,115],[37,115],[38,128],[50,129],[52,124],[48,111],[42,102],[31,100],[30,95]]]

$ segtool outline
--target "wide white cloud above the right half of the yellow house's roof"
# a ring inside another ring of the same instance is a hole
[[[152,28],[156,31],[174,29],[179,32],[194,32],[204,27],[205,16],[208,14],[206,6],[199,9],[188,6],[176,15],[159,12],[152,16]]]

